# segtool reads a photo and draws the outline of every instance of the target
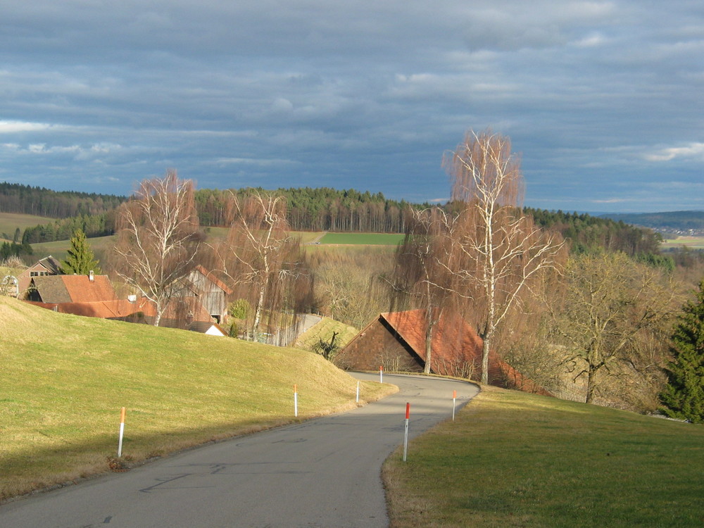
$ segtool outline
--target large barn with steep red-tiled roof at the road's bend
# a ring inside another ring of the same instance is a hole
[[[346,370],[422,372],[425,367],[425,310],[381,313],[350,341],[334,363]],[[459,317],[442,317],[431,344],[434,374],[480,379],[482,338]],[[549,395],[548,391],[489,354],[489,383]]]

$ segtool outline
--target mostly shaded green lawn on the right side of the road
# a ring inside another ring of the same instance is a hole
[[[391,526],[704,526],[704,427],[483,387],[384,465]]]

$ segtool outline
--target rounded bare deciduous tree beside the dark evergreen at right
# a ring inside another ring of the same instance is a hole
[[[567,359],[574,379],[586,376],[586,402],[593,403],[598,389],[618,376],[627,375],[629,384],[648,384],[657,377],[667,329],[681,302],[680,288],[624,253],[572,258],[565,277],[561,302],[555,299],[550,305],[553,328],[571,353]],[[617,383],[609,392],[623,385]]]

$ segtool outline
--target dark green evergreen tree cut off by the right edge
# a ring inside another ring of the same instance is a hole
[[[672,336],[673,360],[660,399],[668,416],[704,423],[704,280],[696,301],[683,311]]]

